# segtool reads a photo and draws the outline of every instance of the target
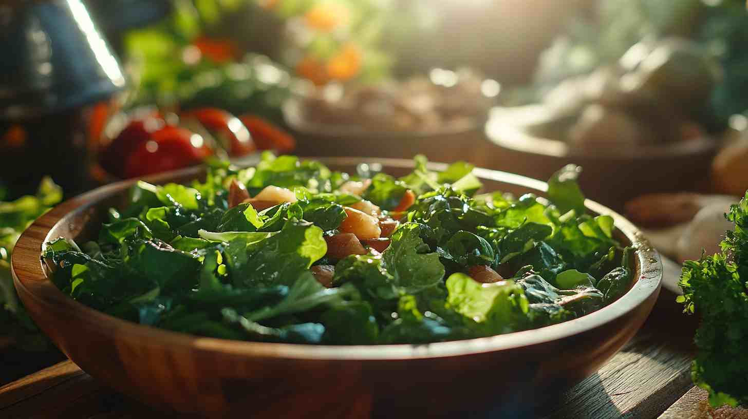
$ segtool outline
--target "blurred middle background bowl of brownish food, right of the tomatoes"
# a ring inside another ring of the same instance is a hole
[[[483,126],[499,91],[498,82],[470,70],[433,69],[376,85],[330,85],[287,101],[283,114],[302,156],[420,153],[480,164]]]

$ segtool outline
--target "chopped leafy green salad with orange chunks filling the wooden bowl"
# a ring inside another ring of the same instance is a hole
[[[204,182],[138,182],[95,242],[46,245],[52,281],[123,319],[236,340],[431,343],[538,328],[626,293],[631,248],[585,213],[569,165],[548,199],[477,195],[473,166],[405,177],[266,153]],[[250,198],[252,197],[252,198]]]

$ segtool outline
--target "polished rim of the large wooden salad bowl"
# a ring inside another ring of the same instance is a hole
[[[327,165],[356,165],[358,163],[381,164],[387,168],[412,168],[413,163],[402,159],[361,159],[358,157],[322,158],[319,161]],[[430,163],[430,168],[440,170],[446,167],[441,163]],[[145,180],[153,183],[165,183],[172,179],[198,177],[203,174],[203,168],[188,168],[166,174],[147,177]],[[527,189],[545,192],[547,185],[539,180],[476,168],[476,176],[485,180],[500,183],[512,183]],[[552,340],[559,340],[597,328],[607,322],[614,322],[619,317],[634,311],[646,302],[653,294],[660,290],[662,278],[662,263],[657,251],[649,242],[621,215],[587,200],[587,209],[599,214],[613,216],[616,227],[622,234],[637,246],[636,252],[638,276],[631,290],[621,299],[592,314],[528,331],[518,331],[510,334],[500,334],[493,337],[482,337],[470,340],[456,340],[450,342],[430,343],[426,345],[375,345],[375,346],[323,346],[300,345],[292,343],[262,343],[245,342],[240,340],[223,340],[212,337],[197,337],[189,334],[165,331],[146,325],[138,325],[123,319],[117,319],[108,314],[88,308],[64,295],[48,278],[48,272],[41,260],[40,252],[44,243],[56,237],[49,236],[52,227],[61,222],[68,222],[66,215],[80,213],[93,209],[102,199],[116,195],[129,189],[136,180],[125,180],[102,186],[91,192],[79,195],[65,201],[42,215],[26,230],[18,240],[13,251],[11,269],[16,288],[23,290],[28,298],[35,299],[40,305],[55,314],[67,316],[67,321],[75,324],[85,324],[96,328],[112,340],[119,340],[126,335],[128,339],[153,342],[158,345],[177,346],[183,349],[199,349],[210,352],[224,352],[233,355],[243,355],[254,358],[281,358],[301,360],[402,360],[418,358],[438,358],[455,355],[470,355],[483,352],[494,352],[502,349],[513,349],[521,346],[536,345]],[[116,332],[116,333],[115,333]]]

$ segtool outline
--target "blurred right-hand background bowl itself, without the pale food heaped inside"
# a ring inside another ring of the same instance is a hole
[[[484,166],[548,179],[574,163],[588,198],[621,210],[631,198],[652,192],[695,191],[708,187],[709,169],[720,141],[699,136],[687,141],[580,150],[565,141],[532,135],[511,113],[494,108],[485,126],[493,150]]]

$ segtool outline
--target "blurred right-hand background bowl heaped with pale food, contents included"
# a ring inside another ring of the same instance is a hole
[[[640,43],[617,64],[567,79],[533,105],[495,108],[497,166],[545,177],[583,166],[583,188],[615,209],[646,192],[708,184],[719,146],[705,115],[717,64],[684,40]]]

